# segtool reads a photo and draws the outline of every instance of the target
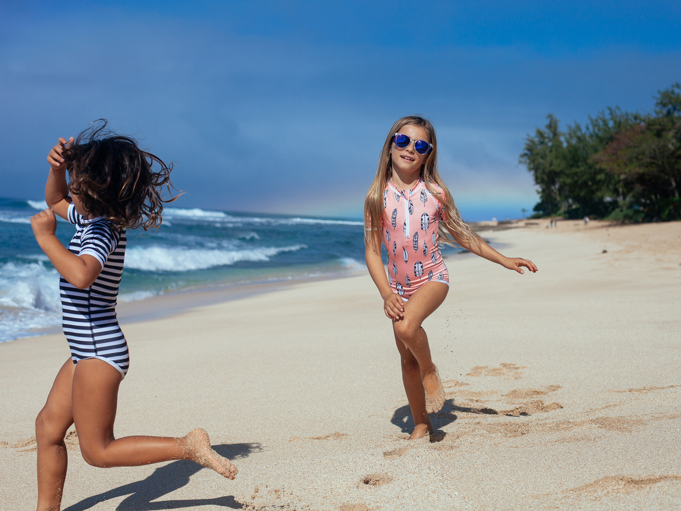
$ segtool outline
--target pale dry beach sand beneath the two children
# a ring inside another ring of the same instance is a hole
[[[63,509],[680,509],[681,222],[544,223],[484,233],[537,274],[447,259],[430,438],[405,440],[368,275],[311,282],[125,327],[116,435],[205,427],[235,481],[91,467],[72,434]],[[35,508],[33,420],[67,356],[61,335],[0,344],[1,510]]]

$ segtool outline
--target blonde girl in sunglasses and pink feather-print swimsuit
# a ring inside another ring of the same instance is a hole
[[[449,291],[439,243],[456,242],[520,274],[522,267],[533,272],[537,267],[527,259],[504,257],[464,223],[437,171],[435,129],[421,117],[403,117],[390,129],[364,201],[364,222],[366,265],[383,298],[383,312],[392,320],[414,419],[413,440],[432,433],[428,414],[445,402],[421,326]],[[381,244],[387,249],[387,278]]]

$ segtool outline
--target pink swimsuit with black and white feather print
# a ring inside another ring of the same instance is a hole
[[[442,188],[432,183],[444,197]],[[449,286],[449,274],[438,246],[438,227],[445,205],[424,180],[400,190],[390,180],[383,192],[381,231],[387,249],[388,281],[403,300],[431,280]]]

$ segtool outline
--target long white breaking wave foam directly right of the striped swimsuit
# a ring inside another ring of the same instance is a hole
[[[199,248],[132,247],[125,254],[125,266],[147,271],[189,271],[233,265],[238,261],[269,261],[281,252],[307,248],[305,245],[250,248],[246,250],[205,250]]]

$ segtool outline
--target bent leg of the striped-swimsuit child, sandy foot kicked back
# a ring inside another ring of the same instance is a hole
[[[236,467],[210,448],[208,434],[197,428],[183,438],[129,436],[114,438],[121,374],[99,359],[78,362],[72,390],[73,414],[80,452],[96,467],[148,465],[191,459],[234,479]]]

